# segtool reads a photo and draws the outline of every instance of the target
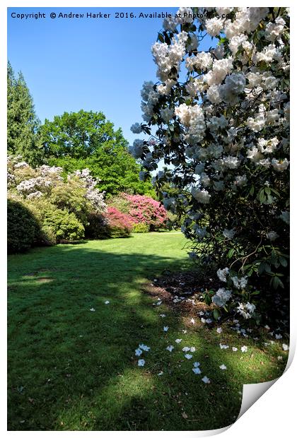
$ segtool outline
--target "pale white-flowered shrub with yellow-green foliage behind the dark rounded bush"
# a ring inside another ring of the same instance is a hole
[[[40,224],[42,243],[84,237],[91,215],[106,211],[104,192],[88,169],[62,176],[62,167],[33,169],[21,157],[8,157],[8,198],[21,203]]]

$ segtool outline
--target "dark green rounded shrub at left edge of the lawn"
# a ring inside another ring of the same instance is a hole
[[[21,202],[7,201],[8,253],[21,252],[33,246],[39,233],[39,223]]]

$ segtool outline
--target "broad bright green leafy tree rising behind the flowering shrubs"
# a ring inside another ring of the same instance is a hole
[[[140,165],[128,153],[121,129],[115,131],[102,112],[64,112],[40,129],[45,159],[74,172],[86,167],[100,179],[106,196],[120,191],[156,196],[150,182],[139,180]]]

